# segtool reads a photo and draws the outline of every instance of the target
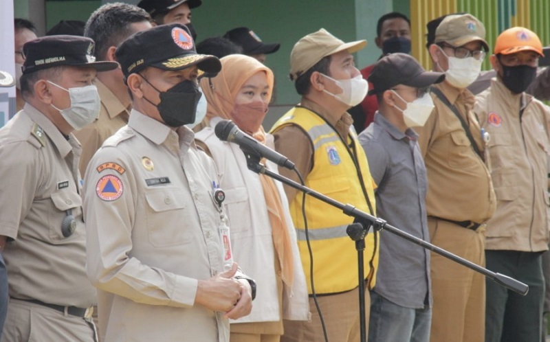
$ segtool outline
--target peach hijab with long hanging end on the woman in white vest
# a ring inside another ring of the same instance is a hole
[[[208,102],[206,119],[210,120],[212,117],[233,119],[232,112],[237,93],[239,93],[243,84],[259,71],[264,71],[267,76],[267,84],[270,86],[267,100],[271,99],[273,72],[269,68],[265,67],[265,65],[255,58],[239,54],[225,56],[220,60],[221,71],[218,75],[214,78],[203,78],[201,80],[201,89]],[[265,144],[265,130],[263,126],[260,126],[252,136],[262,144]],[[260,181],[267,205],[267,214],[272,227],[276,256],[281,264],[281,277],[287,286],[292,286],[294,274],[292,246],[281,203],[281,196],[279,196],[273,179],[260,174]]]

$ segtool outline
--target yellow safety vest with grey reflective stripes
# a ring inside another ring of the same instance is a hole
[[[303,107],[295,107],[274,124],[272,132],[287,125],[302,128],[314,146],[314,167],[305,179],[305,186],[329,196],[334,200],[351,204],[363,212],[374,214],[374,182],[371,178],[369,163],[360,145],[357,134],[350,129],[347,137],[349,148],[340,135],[324,119]],[[351,155],[354,157],[352,158]],[[359,168],[355,166],[357,161]],[[369,196],[373,213],[362,190],[362,181]],[[290,201],[290,214],[298,233],[298,248],[304,267],[307,287],[311,294],[310,258],[305,236],[305,224],[302,214],[302,193]],[[355,242],[346,233],[353,218],[317,198],[306,196],[305,213],[308,235],[314,255],[314,285],[316,293],[339,293],[358,287],[358,256]],[[364,274],[367,286],[375,285],[378,265],[378,233],[372,229],[365,238]]]

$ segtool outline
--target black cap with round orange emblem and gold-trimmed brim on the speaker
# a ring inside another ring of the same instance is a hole
[[[115,54],[124,78],[146,67],[181,70],[197,65],[199,70],[214,76],[221,70],[217,57],[197,54],[189,29],[178,23],[137,32],[122,42]]]

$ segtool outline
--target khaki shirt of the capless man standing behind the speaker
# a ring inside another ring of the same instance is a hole
[[[84,175],[91,157],[101,147],[103,141],[115,134],[122,126],[128,123],[130,103],[122,103],[100,80],[96,79],[101,109],[96,121],[74,133],[82,144],[80,157],[80,174]]]

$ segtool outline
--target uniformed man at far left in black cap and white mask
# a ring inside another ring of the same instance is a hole
[[[23,45],[23,110],[0,129],[0,250],[10,305],[2,341],[95,341],[86,272],[80,144],[96,119],[94,41],[47,36]],[[6,243],[7,242],[7,243]]]

